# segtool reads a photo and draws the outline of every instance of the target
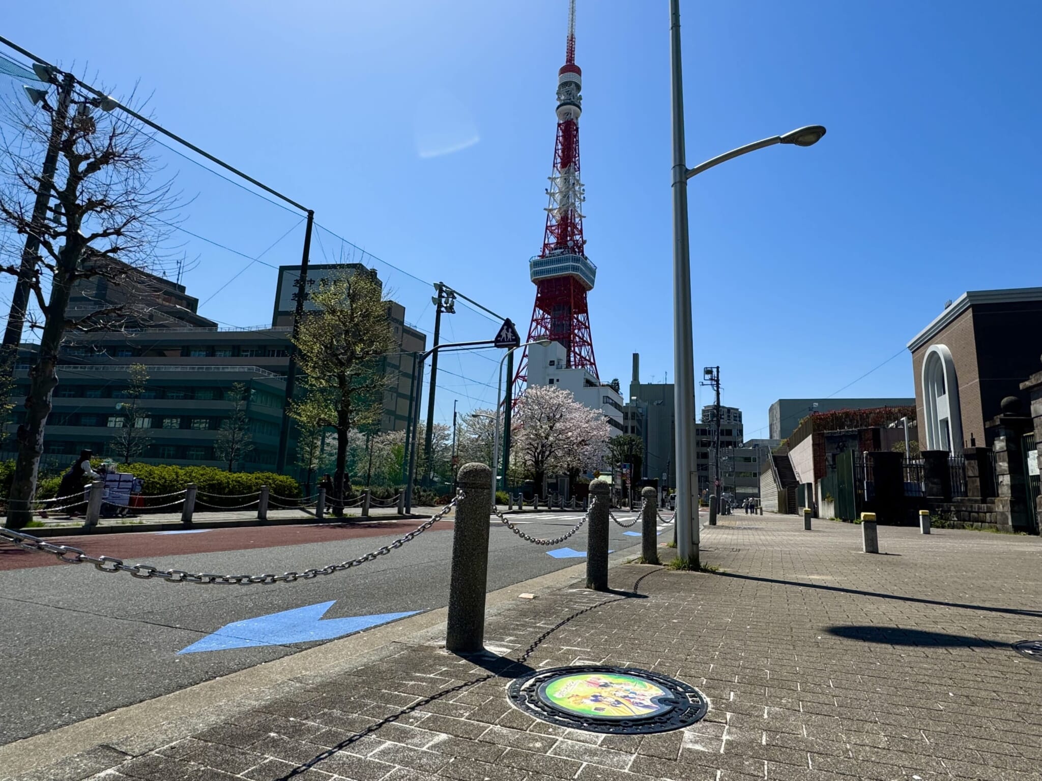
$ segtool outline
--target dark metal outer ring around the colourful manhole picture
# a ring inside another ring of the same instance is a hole
[[[665,697],[660,697],[655,701],[660,706],[667,706],[666,709],[647,716],[595,716],[570,712],[542,697],[546,687],[557,678],[598,673],[647,680],[666,691]],[[512,681],[507,686],[506,696],[516,708],[543,722],[586,732],[617,735],[640,735],[683,729],[701,721],[709,712],[709,702],[690,684],[649,670],[603,664],[540,670]]]

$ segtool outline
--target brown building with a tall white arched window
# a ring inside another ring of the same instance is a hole
[[[969,291],[908,344],[915,378],[919,446],[948,450],[992,445],[987,421],[1004,397],[1020,399],[1042,353],[1042,287]]]

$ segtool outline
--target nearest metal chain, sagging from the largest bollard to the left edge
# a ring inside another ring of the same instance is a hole
[[[288,572],[282,573],[281,575],[214,575],[212,573],[189,573],[183,570],[160,570],[156,566],[145,563],[125,564],[123,563],[123,559],[120,558],[115,558],[113,556],[91,556],[79,548],[74,548],[69,545],[53,545],[52,543],[41,539],[40,537],[34,537],[31,534],[26,534],[21,531],[15,531],[14,529],[0,528],[0,539],[6,539],[22,550],[50,553],[51,555],[56,556],[59,561],[65,561],[68,564],[90,563],[94,564],[94,568],[100,572],[126,572],[130,573],[131,577],[141,578],[143,580],[160,578],[168,583],[199,583],[203,585],[227,585],[232,583],[240,585],[264,583],[268,585],[271,583],[293,583],[297,580],[311,580],[312,578],[317,578],[319,575],[331,575],[334,572],[350,570],[352,566],[358,566],[367,561],[373,561],[380,556],[386,556],[391,553],[391,551],[397,550],[405,545],[405,543],[415,539],[436,523],[441,521],[446,514],[448,514],[449,510],[460,503],[460,500],[463,498],[464,494],[461,490],[456,494],[455,499],[445,505],[442,510],[436,512],[428,521],[425,521],[420,526],[417,526],[413,529],[413,531],[408,532],[408,534],[403,537],[399,537],[395,541],[390,545],[386,545],[382,548],[377,548],[375,551],[367,553],[365,556],[359,556],[356,559],[348,559],[347,561],[342,561],[339,564],[327,564],[320,570],[312,569],[304,570],[303,572]]]

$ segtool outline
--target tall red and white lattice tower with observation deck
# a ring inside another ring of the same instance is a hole
[[[582,114],[582,71],[575,65],[575,0],[568,6],[568,45],[565,65],[557,71],[557,141],[553,173],[546,194],[546,231],[543,251],[528,261],[536,283],[528,342],[549,338],[565,348],[567,366],[586,369],[595,378],[597,362],[590,335],[587,293],[593,289],[597,267],[586,256],[582,237],[585,200],[579,180],[579,115]],[[527,379],[527,348],[518,364],[516,389]]]

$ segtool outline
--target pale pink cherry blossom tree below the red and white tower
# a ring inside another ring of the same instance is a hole
[[[603,461],[607,421],[575,401],[571,391],[528,387],[518,399],[513,423],[514,458],[534,475],[540,495],[547,474],[566,472],[574,480]]]

